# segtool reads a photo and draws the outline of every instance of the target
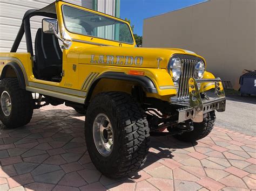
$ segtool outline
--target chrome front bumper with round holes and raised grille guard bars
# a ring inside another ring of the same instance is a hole
[[[215,84],[215,90],[213,95],[206,95],[205,98],[201,98],[201,94],[198,85],[201,83]],[[189,86],[189,99],[186,102],[176,103],[183,105],[183,108],[177,109],[178,111],[178,123],[184,122],[188,119],[192,119],[193,122],[203,122],[204,114],[213,110],[219,112],[225,111],[226,98],[224,93],[223,84],[219,78],[217,79],[194,79],[188,80]]]

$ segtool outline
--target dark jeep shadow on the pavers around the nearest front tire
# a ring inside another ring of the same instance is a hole
[[[95,168],[87,153],[84,119],[68,107],[63,107],[63,110],[41,109],[34,111],[28,125],[18,129],[1,129],[1,190],[15,187],[104,190],[118,185],[133,185],[134,181],[144,178],[142,173],[147,172],[155,162],[172,159],[172,152],[193,147],[191,143],[179,142],[171,136],[151,137],[143,171],[120,179],[109,179]]]

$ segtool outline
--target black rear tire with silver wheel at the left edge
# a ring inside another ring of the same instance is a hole
[[[32,94],[19,87],[17,78],[0,81],[0,96],[0,119],[6,128],[18,128],[30,122],[35,104]]]

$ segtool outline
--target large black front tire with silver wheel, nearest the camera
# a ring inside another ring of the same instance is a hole
[[[129,94],[101,93],[86,112],[88,152],[96,168],[109,178],[135,172],[144,164],[149,131],[144,111]]]

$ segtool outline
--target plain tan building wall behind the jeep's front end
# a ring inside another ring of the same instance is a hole
[[[143,47],[189,49],[234,85],[256,69],[256,1],[211,0],[144,20]]]

